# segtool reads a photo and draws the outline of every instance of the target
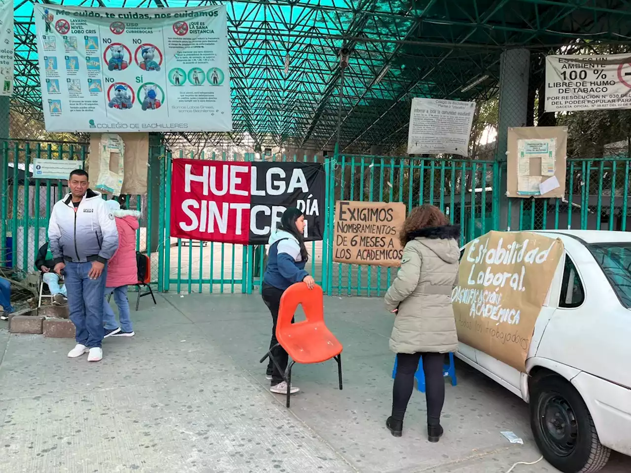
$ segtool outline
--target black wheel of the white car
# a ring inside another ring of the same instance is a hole
[[[581,395],[556,374],[531,382],[530,423],[543,457],[563,473],[597,472],[609,460]]]

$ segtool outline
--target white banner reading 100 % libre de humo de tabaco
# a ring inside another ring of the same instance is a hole
[[[546,112],[631,108],[631,54],[546,56]]]

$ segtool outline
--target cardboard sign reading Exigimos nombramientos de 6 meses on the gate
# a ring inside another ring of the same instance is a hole
[[[355,265],[399,266],[405,221],[401,202],[338,201],[333,261]]]

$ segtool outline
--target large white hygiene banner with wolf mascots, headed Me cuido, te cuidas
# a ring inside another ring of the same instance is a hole
[[[47,131],[230,131],[226,8],[33,4]]]

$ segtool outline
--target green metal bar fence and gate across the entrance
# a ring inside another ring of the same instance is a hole
[[[52,205],[67,189],[62,181],[32,179],[34,158],[85,160],[85,143],[0,141],[2,165],[0,254],[3,265],[28,272],[46,239]],[[264,246],[176,239],[169,236],[171,162],[194,155],[151,147],[146,196],[125,196],[128,208],[142,214],[138,250],[151,258],[151,278],[160,291],[258,292],[266,263]],[[206,154],[198,159],[254,160],[243,155]],[[287,157],[275,161],[322,162],[326,174],[323,241],[307,246],[307,268],[326,290],[339,296],[382,296],[394,268],[333,262],[334,208],[338,200],[403,202],[408,209],[436,205],[461,226],[460,242],[492,229],[593,229],[626,231],[628,157],[570,159],[563,199],[508,199],[502,183],[505,163],[469,159],[380,157]],[[27,171],[27,172],[25,172]],[[156,183],[156,185],[152,185]]]

